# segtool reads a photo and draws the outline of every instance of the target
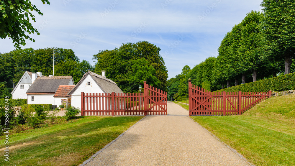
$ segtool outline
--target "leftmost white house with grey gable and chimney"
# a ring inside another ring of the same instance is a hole
[[[37,77],[42,77],[41,72],[31,73],[29,71],[25,71],[22,78],[20,78],[17,85],[14,87],[12,94],[12,99],[26,99],[27,98],[27,90],[30,88],[32,83],[36,80]]]

